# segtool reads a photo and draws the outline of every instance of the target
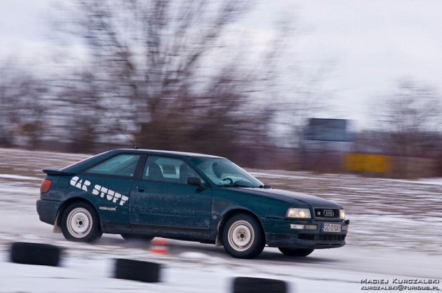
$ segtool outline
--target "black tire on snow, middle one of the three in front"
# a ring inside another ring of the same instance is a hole
[[[160,282],[160,271],[161,265],[155,262],[119,258],[115,264],[116,279],[156,283]]]

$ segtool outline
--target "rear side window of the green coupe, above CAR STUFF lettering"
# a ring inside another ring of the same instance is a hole
[[[93,166],[91,169],[86,170],[86,172],[90,174],[133,177],[139,159],[140,155],[137,154],[119,154]]]

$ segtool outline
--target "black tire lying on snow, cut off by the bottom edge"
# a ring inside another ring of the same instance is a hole
[[[236,277],[234,293],[287,293],[287,283],[279,279]]]

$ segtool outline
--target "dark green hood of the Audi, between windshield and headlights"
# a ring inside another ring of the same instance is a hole
[[[305,193],[284,191],[282,189],[274,188],[240,188],[248,193],[254,193],[259,196],[267,196],[271,198],[277,198],[283,201],[295,202],[302,201],[307,203],[309,206],[314,208],[342,208],[341,205],[334,203],[333,201],[328,201],[324,198],[319,198],[317,196],[310,196]]]

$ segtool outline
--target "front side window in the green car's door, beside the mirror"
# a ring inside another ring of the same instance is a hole
[[[200,178],[185,161],[163,156],[149,156],[143,172],[143,179],[150,181],[187,184],[189,177]]]

